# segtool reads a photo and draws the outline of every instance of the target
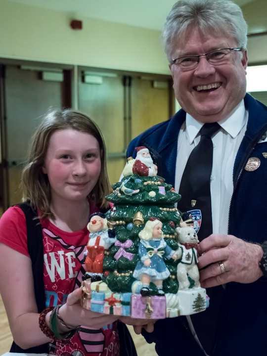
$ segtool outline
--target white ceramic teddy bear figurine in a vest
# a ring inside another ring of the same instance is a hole
[[[181,261],[177,266],[179,290],[189,288],[190,282],[187,274],[194,280],[194,286],[200,287],[196,250],[198,243],[197,234],[192,226],[186,226],[185,223],[182,223],[180,226],[182,227],[176,228],[179,246],[178,250],[176,251],[176,255],[178,259],[181,258]]]

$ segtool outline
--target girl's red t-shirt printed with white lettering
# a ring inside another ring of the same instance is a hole
[[[90,204],[90,213],[99,212]],[[81,285],[82,265],[89,239],[87,227],[76,232],[60,230],[48,219],[41,221],[44,243],[44,282],[46,307],[66,302],[67,296]],[[18,206],[9,208],[0,219],[0,242],[29,257],[26,219]],[[52,342],[49,353],[65,356],[118,356],[119,336],[113,323],[95,330],[83,326],[68,343]]]

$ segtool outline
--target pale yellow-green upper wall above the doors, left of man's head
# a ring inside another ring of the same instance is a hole
[[[160,31],[0,0],[0,57],[170,74]]]

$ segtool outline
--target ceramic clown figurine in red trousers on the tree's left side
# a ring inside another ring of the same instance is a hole
[[[92,281],[102,279],[104,250],[107,250],[117,239],[115,231],[108,229],[105,214],[94,213],[89,218],[89,241],[85,260],[86,278]]]

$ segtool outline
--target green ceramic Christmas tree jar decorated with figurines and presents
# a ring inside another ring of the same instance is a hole
[[[175,207],[180,195],[157,176],[149,151],[145,147],[136,151],[136,160],[128,161],[125,177],[107,196],[114,205],[106,213],[107,226],[101,231],[101,236],[107,236],[102,257],[98,257],[103,274],[94,267],[102,280],[95,281],[92,271],[84,276],[82,305],[137,318],[205,310],[206,291],[200,288],[196,266],[197,236],[193,227],[182,223]],[[88,251],[94,246],[90,239],[89,245]]]

